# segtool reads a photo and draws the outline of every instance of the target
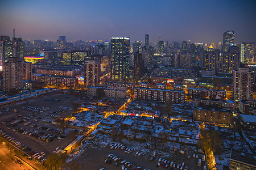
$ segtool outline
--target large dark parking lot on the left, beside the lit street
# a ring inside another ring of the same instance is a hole
[[[1,108],[0,129],[14,146],[43,161],[56,147],[64,148],[77,132],[53,125],[51,122],[59,116],[72,113],[74,96],[53,94],[6,105]]]

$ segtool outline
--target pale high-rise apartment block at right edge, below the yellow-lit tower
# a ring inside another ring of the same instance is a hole
[[[242,99],[253,98],[254,74],[247,68],[239,68],[233,71],[233,99],[238,101]]]

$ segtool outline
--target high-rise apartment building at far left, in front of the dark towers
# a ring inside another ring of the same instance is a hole
[[[9,92],[12,89],[22,89],[23,61],[18,58],[8,59],[3,63],[3,91]]]

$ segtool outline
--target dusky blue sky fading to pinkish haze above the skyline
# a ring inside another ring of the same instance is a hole
[[[254,0],[6,0],[0,1],[0,34],[23,40],[104,40],[222,42],[256,41]]]

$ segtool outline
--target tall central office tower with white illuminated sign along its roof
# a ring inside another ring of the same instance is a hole
[[[113,79],[125,79],[129,73],[130,38],[111,38],[111,76]]]

